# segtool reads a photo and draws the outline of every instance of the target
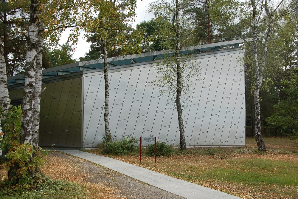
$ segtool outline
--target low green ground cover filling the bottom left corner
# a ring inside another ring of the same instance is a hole
[[[23,186],[10,186],[9,180],[0,181],[1,199],[87,199],[88,192],[76,183],[51,180],[44,175],[34,175],[32,181]]]

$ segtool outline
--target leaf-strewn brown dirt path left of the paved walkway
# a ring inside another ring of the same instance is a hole
[[[50,152],[45,159],[47,163],[41,167],[44,174],[52,179],[67,180],[85,185],[90,188],[90,192],[99,194],[94,194],[97,195],[97,198],[182,198],[97,164],[61,152]]]

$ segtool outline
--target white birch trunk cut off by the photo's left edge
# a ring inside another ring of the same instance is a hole
[[[0,38],[0,106],[4,108],[4,111],[10,109],[8,87],[7,87],[6,64],[4,59],[1,38]],[[4,119],[2,113],[1,113],[1,119],[2,120]]]

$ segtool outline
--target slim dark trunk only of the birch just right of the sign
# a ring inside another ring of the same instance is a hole
[[[176,107],[178,113],[178,123],[179,123],[179,132],[180,132],[180,149],[186,150],[186,143],[184,137],[184,125],[183,125],[183,114],[181,107],[181,65],[180,65],[180,18],[179,18],[179,1],[176,0],[176,66],[177,66],[177,94],[176,94]]]

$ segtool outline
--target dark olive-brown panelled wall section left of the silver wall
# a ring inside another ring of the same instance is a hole
[[[42,85],[39,145],[81,147],[82,78]],[[21,103],[24,89],[10,90],[12,102]]]

